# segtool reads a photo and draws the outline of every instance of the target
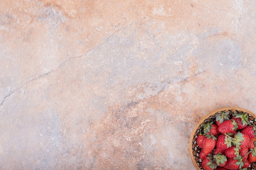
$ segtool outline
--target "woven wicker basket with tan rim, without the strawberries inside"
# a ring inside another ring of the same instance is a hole
[[[198,144],[196,142],[196,138],[198,137],[201,124],[207,123],[208,121],[213,121],[215,122],[215,117],[217,113],[221,113],[222,111],[229,112],[229,115],[232,115],[234,112],[238,113],[248,113],[249,114],[249,121],[253,124],[256,125],[256,115],[249,110],[243,109],[243,108],[238,108],[238,107],[229,107],[229,108],[220,108],[218,110],[214,110],[208,115],[206,115],[202,120],[195,126],[191,137],[189,141],[189,152],[190,152],[190,157],[192,159],[193,165],[197,170],[204,170],[203,168],[200,167],[202,160],[199,158],[199,153],[201,148],[198,147]],[[248,170],[256,170],[256,163],[251,163],[249,166]]]

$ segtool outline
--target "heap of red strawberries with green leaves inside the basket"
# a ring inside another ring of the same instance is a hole
[[[204,170],[247,170],[256,162],[256,127],[247,113],[222,111],[200,125],[196,141]]]

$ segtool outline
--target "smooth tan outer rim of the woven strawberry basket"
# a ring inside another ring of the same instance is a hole
[[[192,160],[192,163],[193,165],[195,166],[195,168],[197,170],[202,170],[197,162],[195,161],[194,159],[194,155],[193,155],[193,149],[192,149],[192,146],[193,146],[193,139],[194,139],[194,136],[195,136],[195,132],[197,131],[198,127],[200,126],[200,124],[202,124],[204,122],[205,119],[209,118],[211,115],[214,115],[215,113],[218,113],[218,112],[221,112],[221,111],[225,111],[225,110],[238,110],[238,111],[243,111],[245,113],[249,113],[249,115],[251,115],[254,119],[256,119],[256,115],[254,113],[252,113],[251,111],[247,110],[247,109],[244,109],[244,108],[240,108],[240,107],[226,107],[226,108],[219,108],[217,110],[213,110],[211,113],[207,114],[206,116],[204,116],[199,122],[198,124],[195,126],[193,132],[191,133],[191,137],[190,137],[190,140],[189,140],[189,152],[190,152],[190,157],[191,157],[191,160]]]

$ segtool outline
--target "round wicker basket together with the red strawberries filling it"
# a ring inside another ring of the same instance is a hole
[[[256,170],[256,115],[238,107],[214,110],[194,128],[189,150],[197,170]]]

